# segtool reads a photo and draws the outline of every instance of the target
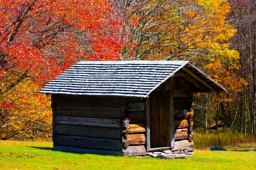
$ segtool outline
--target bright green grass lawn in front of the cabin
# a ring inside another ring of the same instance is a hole
[[[241,148],[245,149],[245,148]],[[0,141],[0,170],[253,170],[256,152],[195,150],[189,159],[163,160],[65,153],[51,142]]]

